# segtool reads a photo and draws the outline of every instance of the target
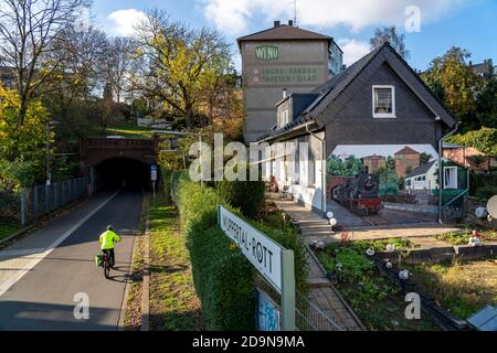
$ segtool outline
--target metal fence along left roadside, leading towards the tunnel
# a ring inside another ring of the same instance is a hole
[[[86,195],[88,178],[75,178],[50,185],[34,185],[17,194],[0,194],[0,218],[21,225]]]

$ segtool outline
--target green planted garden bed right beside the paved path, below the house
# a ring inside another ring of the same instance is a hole
[[[342,280],[336,286],[343,299],[352,307],[368,330],[371,331],[438,331],[426,314],[420,320],[405,319],[405,302],[401,291],[364,255],[364,247],[384,248],[384,242],[360,242],[341,246],[330,244],[317,257],[327,271],[337,271],[341,264]],[[399,242],[399,247],[402,243]],[[403,244],[409,247],[409,244]]]

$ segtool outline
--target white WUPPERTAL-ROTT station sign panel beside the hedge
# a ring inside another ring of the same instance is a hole
[[[223,206],[218,206],[218,216],[223,232],[242,249],[261,275],[282,292],[284,248]]]

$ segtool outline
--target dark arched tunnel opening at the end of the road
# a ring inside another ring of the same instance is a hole
[[[95,184],[98,191],[148,191],[150,165],[129,158],[107,159],[95,168]]]

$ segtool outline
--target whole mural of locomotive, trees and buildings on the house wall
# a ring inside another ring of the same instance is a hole
[[[424,167],[436,158],[429,145],[337,146],[327,160],[328,199],[361,216],[377,214],[382,197],[432,193],[434,168]]]

